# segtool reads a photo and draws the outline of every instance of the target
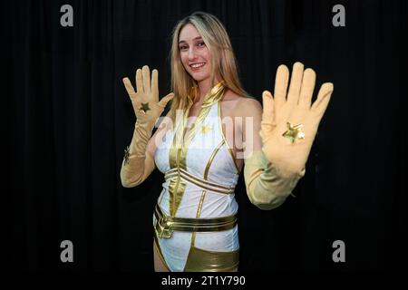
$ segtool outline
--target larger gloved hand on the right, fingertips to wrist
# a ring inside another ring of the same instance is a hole
[[[283,174],[304,171],[319,123],[325,114],[333,83],[322,84],[316,101],[311,104],[316,73],[302,63],[295,63],[287,84],[289,71],[286,65],[277,68],[275,98],[263,92],[263,113],[260,137],[267,160]]]

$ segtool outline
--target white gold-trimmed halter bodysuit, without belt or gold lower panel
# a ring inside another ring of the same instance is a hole
[[[168,130],[154,160],[165,174],[158,205],[166,216],[219,218],[237,213],[234,189],[239,169],[221,127],[221,100],[225,88],[220,82],[206,95],[193,127],[184,137],[188,111],[175,130]],[[153,224],[155,222],[153,215]],[[174,231],[170,238],[156,237],[160,256],[170,271],[184,271],[191,247],[211,253],[239,248],[238,226],[216,232]]]

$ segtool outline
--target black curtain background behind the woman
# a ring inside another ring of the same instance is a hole
[[[60,7],[73,6],[73,27]],[[345,27],[332,7],[345,6]],[[135,122],[121,79],[144,64],[170,90],[170,32],[194,11],[225,24],[245,88],[261,101],[277,66],[312,67],[335,92],[296,198],[255,208],[243,176],[240,270],[406,269],[405,1],[2,2],[5,183],[2,267],[151,271],[156,170],[123,189]],[[3,236],[2,235],[2,236]],[[60,243],[73,241],[73,263]],[[345,242],[345,263],[332,244]]]

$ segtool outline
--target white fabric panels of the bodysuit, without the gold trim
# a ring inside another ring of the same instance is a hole
[[[206,166],[210,156],[222,142],[222,128],[220,127],[219,108],[220,101],[211,105],[209,113],[203,121],[203,126],[210,128],[205,134],[201,128],[197,131],[189,143],[187,152],[186,166],[190,175],[198,179],[204,179]],[[180,120],[181,121],[181,120]],[[175,126],[176,131],[180,128],[180,122]],[[154,159],[156,166],[162,173],[170,170],[169,152],[173,141],[175,131],[167,131],[162,143],[156,150]],[[219,148],[215,155],[208,172],[208,181],[222,186],[235,187],[238,182],[234,160],[228,151],[228,145],[224,144]],[[176,217],[196,218],[199,200],[203,190],[206,191],[199,218],[218,218],[234,215],[238,211],[238,204],[234,194],[219,193],[212,190],[206,190],[193,183],[186,182],[184,195],[177,210]],[[170,215],[170,179],[166,180],[162,186],[158,204],[162,211]],[[154,215],[153,215],[154,222]],[[159,238],[161,252],[171,271],[182,271],[187,261],[189,248],[191,245],[191,236],[189,232],[174,231],[170,238]],[[238,226],[232,229],[219,232],[196,233],[195,247],[205,250],[229,252],[238,249]]]

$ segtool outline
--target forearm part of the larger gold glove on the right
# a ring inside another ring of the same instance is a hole
[[[305,169],[300,172],[279,169],[267,160],[262,150],[256,150],[246,160],[244,167],[248,198],[257,208],[277,208],[285,202],[304,175]]]

